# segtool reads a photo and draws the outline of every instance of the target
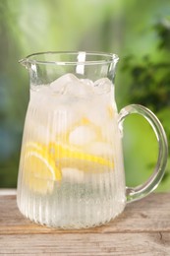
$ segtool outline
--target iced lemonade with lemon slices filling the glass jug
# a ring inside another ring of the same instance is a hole
[[[81,228],[109,222],[125,207],[114,101],[107,78],[66,74],[31,86],[20,162],[18,206],[30,220]]]

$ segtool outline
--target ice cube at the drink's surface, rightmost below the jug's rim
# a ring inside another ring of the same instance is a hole
[[[101,78],[94,82],[93,91],[96,95],[107,94],[111,91],[112,83],[108,78]]]

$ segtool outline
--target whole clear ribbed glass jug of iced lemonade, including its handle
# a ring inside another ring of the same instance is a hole
[[[114,77],[118,56],[100,52],[42,52],[21,63],[30,99],[18,178],[20,211],[37,224],[82,228],[108,223],[127,204],[160,182],[167,140],[156,116],[142,105],[117,111]],[[159,152],[141,186],[125,184],[122,128],[139,113],[150,123]]]

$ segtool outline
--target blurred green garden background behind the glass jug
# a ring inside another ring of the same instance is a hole
[[[0,187],[17,185],[29,83],[18,60],[48,50],[117,53],[118,109],[149,107],[170,141],[169,0],[0,0]],[[127,118],[123,145],[127,184],[138,185],[157,158],[142,117]],[[170,190],[169,169],[157,191]]]

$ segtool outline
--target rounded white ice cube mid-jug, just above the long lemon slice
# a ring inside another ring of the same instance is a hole
[[[83,146],[95,140],[96,133],[95,131],[85,125],[76,127],[69,136],[69,141],[71,144]]]

